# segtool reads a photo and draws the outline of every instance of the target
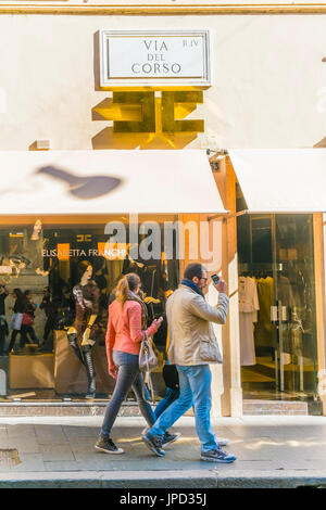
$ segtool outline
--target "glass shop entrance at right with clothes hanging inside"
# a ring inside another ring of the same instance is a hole
[[[238,253],[243,397],[315,397],[312,215],[239,217]]]

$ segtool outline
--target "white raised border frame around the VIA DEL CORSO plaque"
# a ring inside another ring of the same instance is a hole
[[[204,42],[204,73],[202,78],[124,78],[108,77],[108,41],[110,37],[127,36],[202,36]],[[100,86],[108,87],[168,87],[168,86],[211,86],[210,30],[100,30]]]

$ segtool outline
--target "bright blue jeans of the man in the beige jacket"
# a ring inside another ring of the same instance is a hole
[[[217,448],[211,428],[211,382],[212,374],[209,365],[185,367],[176,365],[179,374],[180,394],[149,429],[153,435],[163,436],[191,406],[195,409],[196,430],[201,442],[202,451]]]

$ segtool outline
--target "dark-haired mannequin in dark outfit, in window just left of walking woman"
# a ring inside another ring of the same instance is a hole
[[[96,371],[91,347],[101,333],[99,324],[100,289],[91,279],[92,266],[90,263],[83,260],[78,269],[80,280],[73,289],[76,318],[74,324],[67,330],[67,339],[87,372],[88,391],[86,398],[93,398],[96,395]]]

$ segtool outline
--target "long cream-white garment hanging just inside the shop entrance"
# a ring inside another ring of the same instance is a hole
[[[253,278],[239,278],[239,327],[240,327],[240,365],[255,365],[253,323],[260,309],[256,284]]]

